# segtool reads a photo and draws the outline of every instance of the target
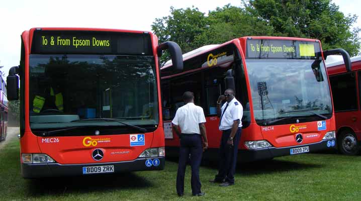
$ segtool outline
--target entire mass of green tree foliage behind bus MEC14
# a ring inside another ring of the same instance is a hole
[[[357,55],[360,28],[351,30],[357,16],[345,16],[338,9],[329,0],[249,0],[208,15],[194,7],[171,7],[169,16],[155,19],[152,30],[159,42],[174,41],[184,53],[243,36],[288,36],[319,39],[323,49],[343,48]]]

